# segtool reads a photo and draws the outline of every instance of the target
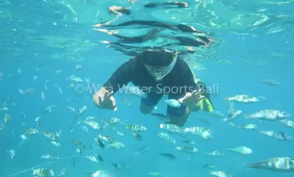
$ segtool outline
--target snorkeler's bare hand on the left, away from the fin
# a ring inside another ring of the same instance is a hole
[[[95,105],[100,109],[114,110],[117,111],[116,100],[113,97],[114,92],[107,91],[102,87],[93,96],[93,101]]]

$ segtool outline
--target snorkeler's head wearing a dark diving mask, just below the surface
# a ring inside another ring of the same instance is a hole
[[[141,57],[149,73],[160,81],[173,69],[177,52],[169,49],[149,49],[142,51]]]

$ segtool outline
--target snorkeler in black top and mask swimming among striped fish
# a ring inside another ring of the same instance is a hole
[[[168,106],[167,116],[171,124],[183,126],[190,112],[213,111],[206,86],[194,78],[188,64],[174,50],[149,49],[121,65],[103,87],[95,93],[93,101],[100,109],[117,111],[113,95],[128,82],[143,91],[140,111],[149,114],[164,95],[178,100],[180,106]]]

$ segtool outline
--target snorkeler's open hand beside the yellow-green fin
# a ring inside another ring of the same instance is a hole
[[[178,99],[178,101],[183,104],[188,106],[188,108],[190,109],[190,111],[197,111],[200,109],[200,104],[199,102],[204,98],[204,96],[200,96],[200,93],[202,91],[199,90],[197,91],[193,91],[192,93],[187,93],[183,98]]]

